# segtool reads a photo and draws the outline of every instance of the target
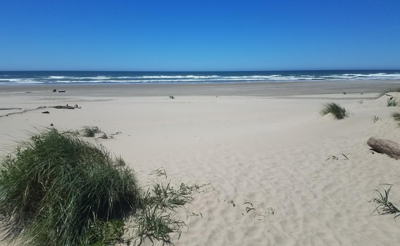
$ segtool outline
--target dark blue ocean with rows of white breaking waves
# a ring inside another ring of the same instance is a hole
[[[0,71],[0,86],[35,84],[196,84],[334,80],[400,80],[400,70],[244,72]]]

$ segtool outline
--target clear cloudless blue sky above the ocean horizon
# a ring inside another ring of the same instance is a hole
[[[400,69],[399,12],[399,0],[0,0],[0,70]]]

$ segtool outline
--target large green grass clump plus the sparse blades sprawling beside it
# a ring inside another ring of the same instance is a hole
[[[17,145],[0,161],[0,227],[22,246],[172,244],[185,225],[175,214],[202,187],[142,186],[121,157],[76,131],[44,128]],[[128,222],[134,235],[122,238]]]

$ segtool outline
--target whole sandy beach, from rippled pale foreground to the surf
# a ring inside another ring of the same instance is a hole
[[[366,141],[378,136],[399,142],[389,116],[398,108],[386,107],[386,98],[373,100],[399,83],[57,86],[65,93],[0,86],[0,108],[82,107],[0,117],[0,145],[50,124],[122,132],[101,142],[142,172],[141,181],[163,167],[174,184],[211,183],[189,206],[198,216],[180,215],[189,229],[177,246],[398,245],[394,216],[371,216],[375,205],[367,200],[374,189],[388,188],[382,183],[399,181],[399,162],[372,154]],[[350,116],[320,117],[325,102],[337,102]],[[332,155],[339,160],[326,161]],[[392,193],[400,195],[397,185]],[[246,201],[263,216],[246,214]]]

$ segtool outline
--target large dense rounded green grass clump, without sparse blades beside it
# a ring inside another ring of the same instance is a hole
[[[42,129],[0,163],[3,236],[19,245],[87,245],[93,226],[143,208],[136,173],[75,132]]]

